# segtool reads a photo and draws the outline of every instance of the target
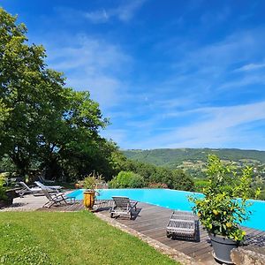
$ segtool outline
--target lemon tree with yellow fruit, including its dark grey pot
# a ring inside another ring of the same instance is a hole
[[[252,173],[250,167],[238,172],[216,155],[208,155],[208,186],[203,189],[204,196],[189,197],[194,203],[193,212],[208,231],[217,261],[232,263],[231,249],[239,246],[246,235],[239,224],[251,214],[247,198],[253,193]]]

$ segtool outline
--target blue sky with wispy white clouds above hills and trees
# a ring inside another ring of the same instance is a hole
[[[265,150],[265,1],[19,1],[67,86],[89,90],[120,148]]]

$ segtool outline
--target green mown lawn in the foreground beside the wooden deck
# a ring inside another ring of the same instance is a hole
[[[0,214],[0,264],[176,264],[89,212]]]

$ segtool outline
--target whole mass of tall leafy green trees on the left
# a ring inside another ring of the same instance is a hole
[[[108,120],[98,103],[64,87],[63,74],[47,68],[45,49],[29,45],[16,20],[0,9],[0,158],[8,155],[21,175],[33,164],[48,175],[108,168],[117,147],[99,135]]]

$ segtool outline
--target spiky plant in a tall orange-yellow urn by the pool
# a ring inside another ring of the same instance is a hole
[[[95,172],[89,174],[83,180],[83,186],[86,189],[84,192],[84,206],[88,210],[91,210],[95,204],[95,195],[99,194],[95,189],[100,183],[102,183],[102,175],[95,174]]]

